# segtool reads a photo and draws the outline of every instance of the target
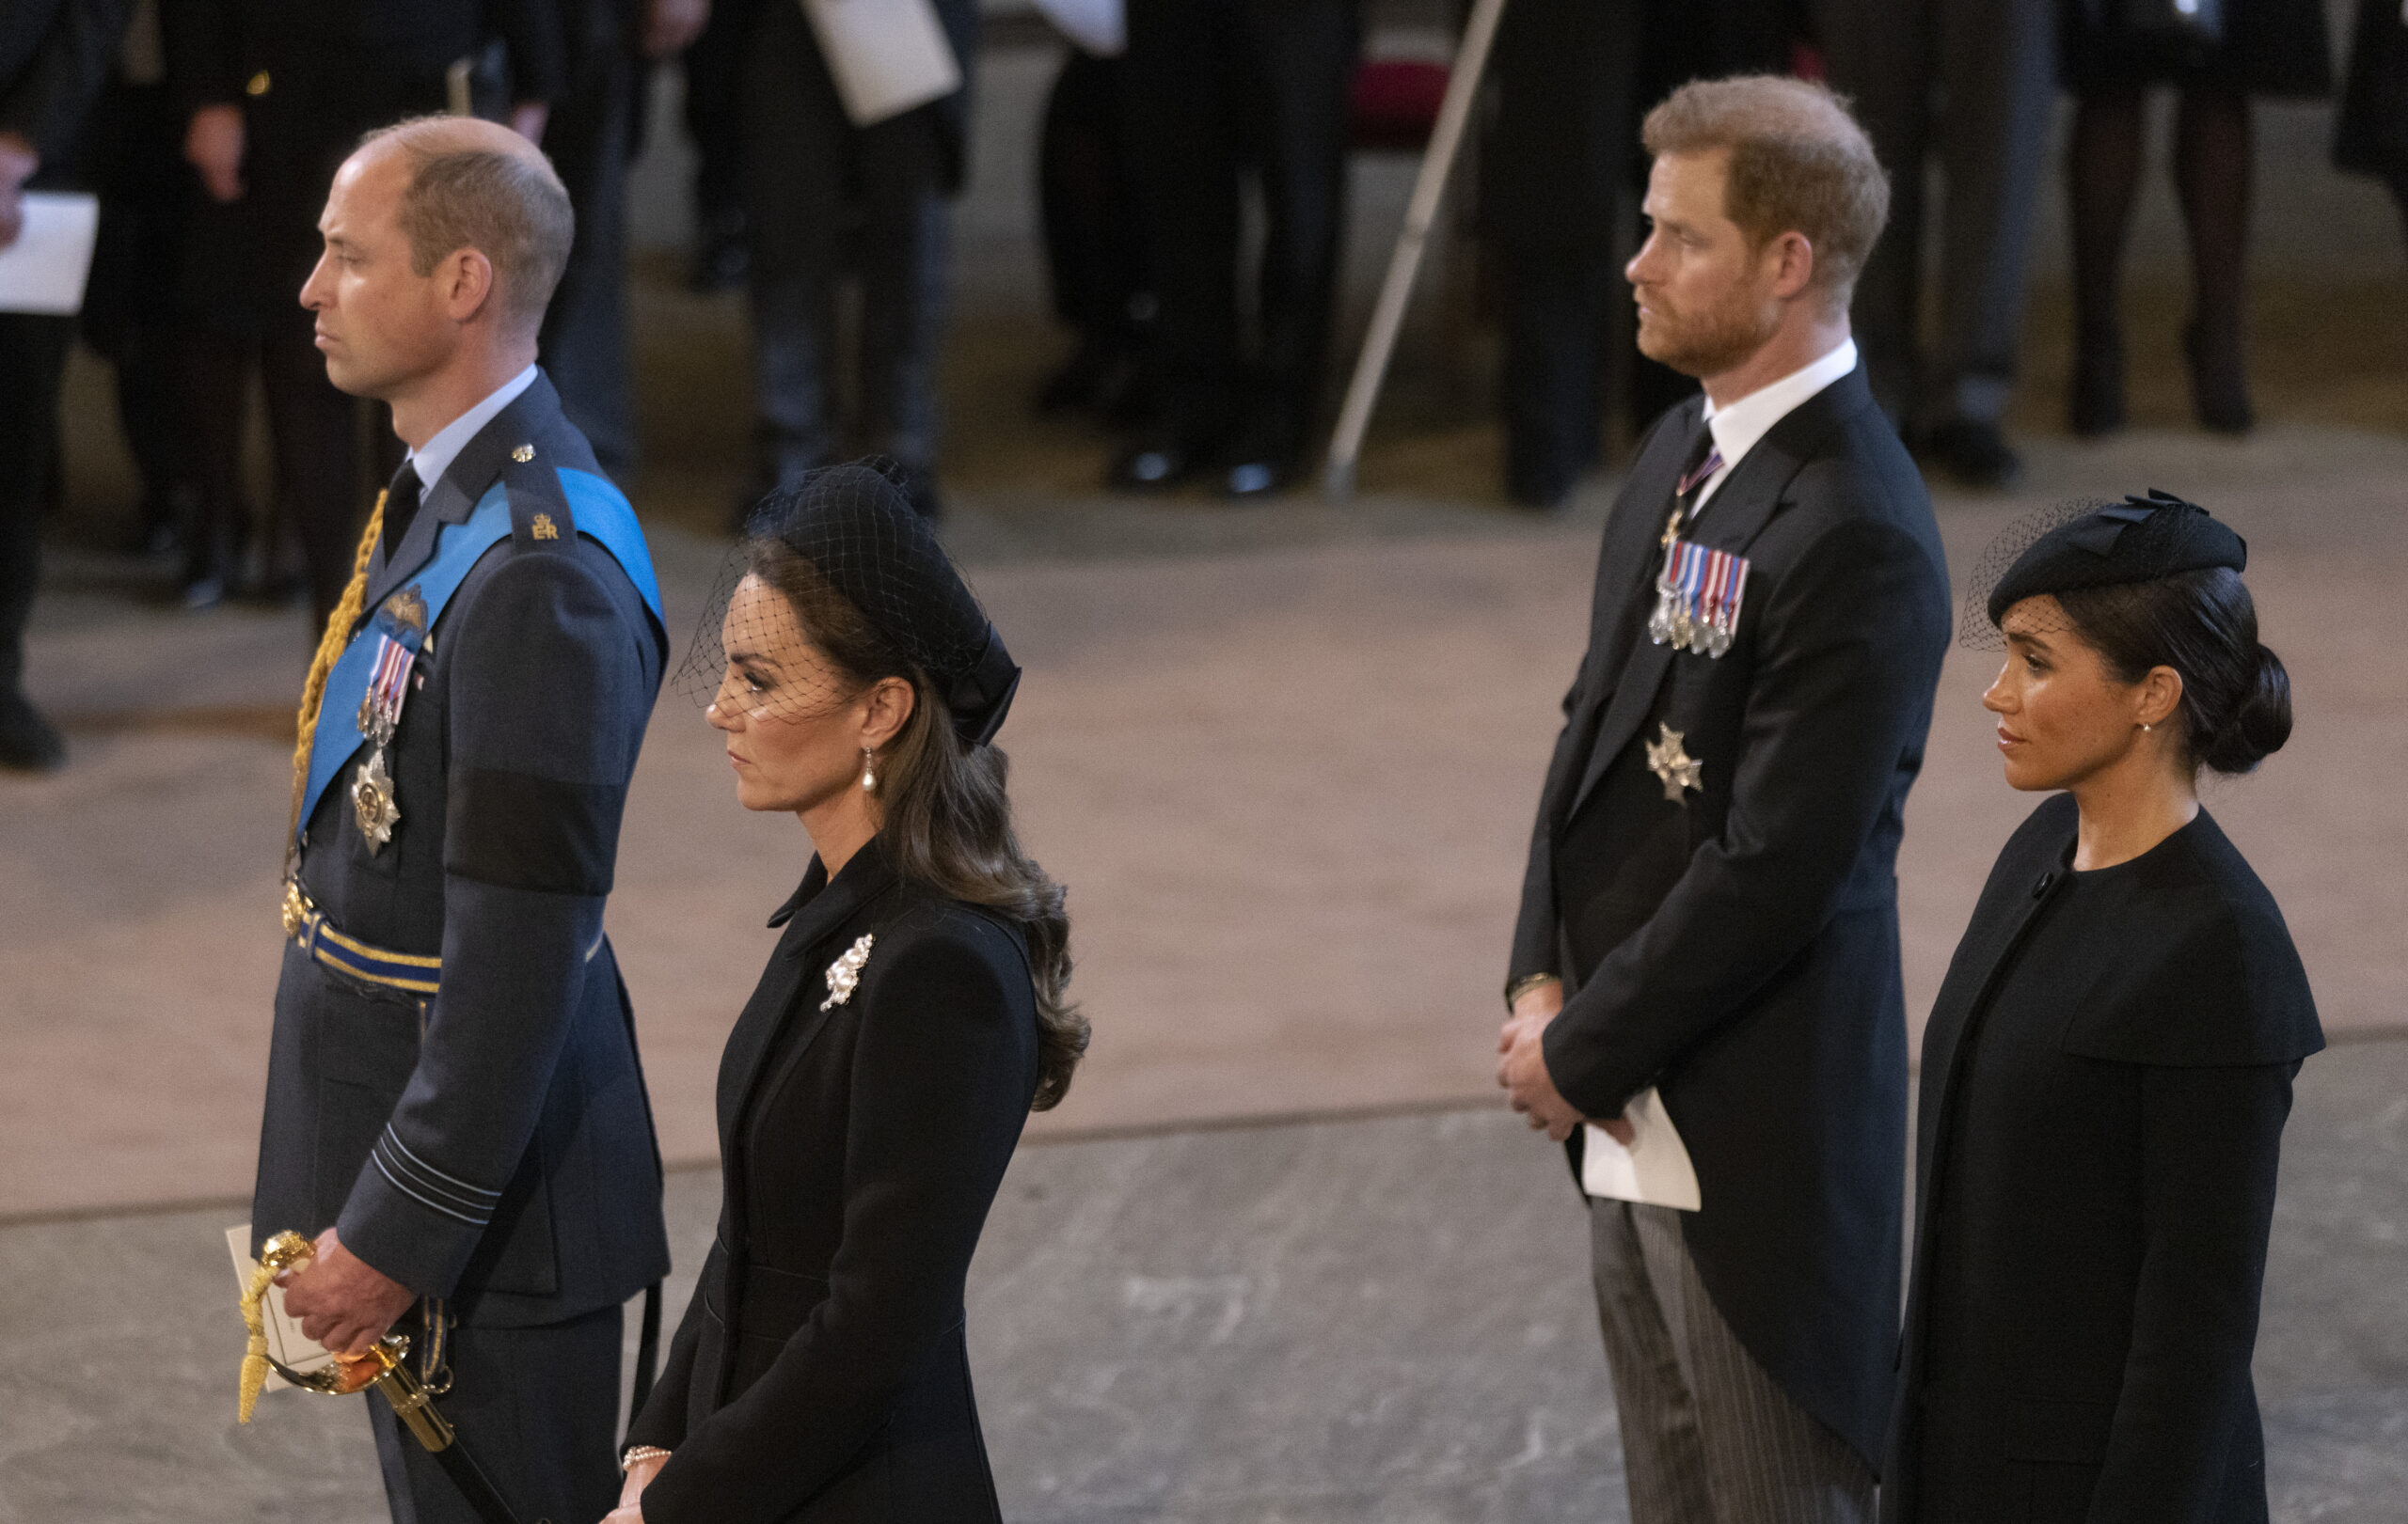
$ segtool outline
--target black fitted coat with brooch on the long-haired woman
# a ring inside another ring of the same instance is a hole
[[[1035,1098],[1026,941],[877,840],[833,881],[814,860],[771,925],[720,1062],[718,1242],[628,1428],[669,1449],[643,1517],[999,1519],[963,1281]]]

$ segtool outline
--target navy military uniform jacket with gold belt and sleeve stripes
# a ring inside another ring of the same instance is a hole
[[[510,537],[414,662],[393,840],[368,850],[347,766],[301,847],[327,925],[441,956],[441,987],[364,982],[284,944],[250,1204],[253,1252],[335,1223],[361,1259],[489,1327],[612,1307],[669,1269],[636,1028],[602,934],[667,643],[619,561],[578,534],[561,467],[597,474],[537,376],[368,563],[373,612],[441,527],[496,482],[508,491]]]

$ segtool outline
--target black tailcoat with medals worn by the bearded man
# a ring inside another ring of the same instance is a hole
[[[1584,1117],[1657,1086],[1698,1170],[1702,1211],[1681,1225],[1714,1307],[1878,1464],[1907,1132],[1895,862],[1948,573],[1859,366],[1775,424],[1686,527],[1748,559],[1731,650],[1649,643],[1657,539],[1702,407],[1657,421],[1606,520],[1510,980],[1565,975],[1546,1069]],[[1645,761],[1662,725],[1705,763],[1678,804]]]

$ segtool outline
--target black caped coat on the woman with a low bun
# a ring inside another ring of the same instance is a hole
[[[2249,1351],[2316,1006],[2206,811],[2081,874],[2076,819],[2006,843],[1924,1030],[1888,1524],[2266,1519]]]

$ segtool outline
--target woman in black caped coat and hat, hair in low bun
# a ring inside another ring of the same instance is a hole
[[[1888,1524],[2266,1519],[2249,1351],[2324,1038],[2194,790],[2290,734],[2244,559],[2201,508],[2131,498],[1989,592],[2006,780],[2064,792],[2008,840],[1924,1030]]]

